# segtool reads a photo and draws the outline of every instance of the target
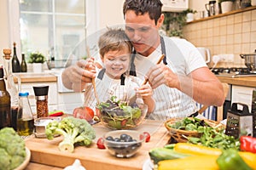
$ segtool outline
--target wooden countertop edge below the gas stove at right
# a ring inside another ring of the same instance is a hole
[[[218,77],[218,80],[232,85],[256,88],[256,77]]]

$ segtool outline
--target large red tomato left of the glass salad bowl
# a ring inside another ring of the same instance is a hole
[[[91,121],[94,117],[94,111],[90,107],[77,107],[73,110],[73,116],[86,121]]]

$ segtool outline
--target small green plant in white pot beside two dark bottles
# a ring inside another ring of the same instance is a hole
[[[32,64],[33,72],[42,72],[45,60],[46,59],[43,54],[36,52],[29,55],[28,63]]]

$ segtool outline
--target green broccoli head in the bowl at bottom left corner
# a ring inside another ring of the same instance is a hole
[[[3,127],[0,130],[0,170],[15,169],[25,158],[25,141],[12,127]]]

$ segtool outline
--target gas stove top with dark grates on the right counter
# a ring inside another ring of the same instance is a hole
[[[251,71],[247,67],[218,67],[212,68],[211,70],[216,77],[256,77],[256,71]]]

